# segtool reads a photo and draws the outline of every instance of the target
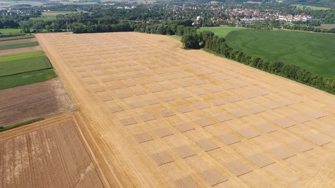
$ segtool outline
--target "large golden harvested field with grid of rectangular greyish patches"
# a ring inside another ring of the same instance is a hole
[[[141,33],[37,34],[113,187],[333,187],[335,97]]]

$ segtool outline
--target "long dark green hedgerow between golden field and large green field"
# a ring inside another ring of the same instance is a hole
[[[282,61],[270,62],[259,57],[247,55],[242,51],[237,51],[229,47],[225,43],[225,39],[222,37],[214,36],[213,34],[207,36],[208,38],[204,40],[205,51],[212,52],[218,56],[243,63],[262,71],[295,80],[296,82],[312,86],[329,93],[335,93],[334,79],[326,78],[318,74],[312,74],[306,70],[300,69],[299,66],[284,64]]]

